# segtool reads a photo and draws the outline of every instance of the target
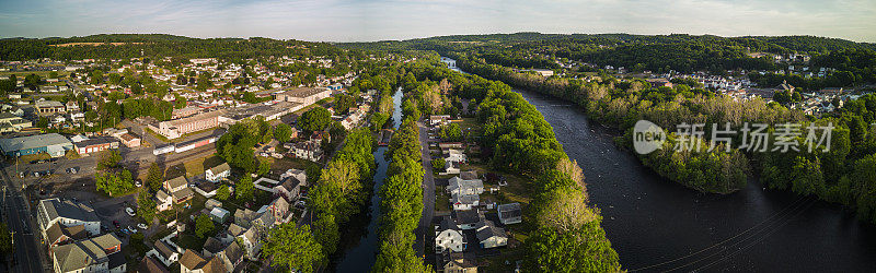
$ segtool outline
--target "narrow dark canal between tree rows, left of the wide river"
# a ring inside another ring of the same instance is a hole
[[[399,129],[402,122],[401,88],[392,95],[392,100],[394,109],[389,122],[393,122],[392,128]],[[341,237],[344,238],[344,241],[342,241],[343,248],[339,248],[338,252],[342,253],[333,257],[331,264],[335,272],[368,272],[371,265],[374,265],[379,246],[377,228],[380,218],[380,198],[378,191],[383,185],[383,179],[387,178],[387,166],[389,166],[389,162],[383,158],[384,152],[387,152],[387,147],[381,146],[373,153],[377,170],[368,211],[354,216],[348,225],[341,227]]]

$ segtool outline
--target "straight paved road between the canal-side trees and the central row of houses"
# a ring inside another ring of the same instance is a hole
[[[426,240],[425,236],[431,226],[431,218],[435,215],[435,177],[431,174],[431,155],[429,155],[429,131],[422,121],[417,122],[419,128],[419,146],[423,153],[423,170],[426,175],[423,177],[423,216],[419,218],[419,226],[417,226],[417,240],[415,248],[418,257],[424,257]]]

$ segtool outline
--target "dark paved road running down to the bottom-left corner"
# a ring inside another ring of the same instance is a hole
[[[10,179],[5,169],[0,171],[0,179],[7,187],[2,193],[3,214],[7,225],[14,232],[13,244],[15,251],[13,259],[15,264],[12,272],[44,272],[43,247],[37,244],[39,227],[36,221],[31,217],[30,205],[23,197],[21,187]],[[36,252],[36,253],[34,253]]]

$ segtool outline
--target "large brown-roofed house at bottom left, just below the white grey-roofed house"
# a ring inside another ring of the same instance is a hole
[[[51,249],[55,272],[126,272],[122,241],[114,234]]]

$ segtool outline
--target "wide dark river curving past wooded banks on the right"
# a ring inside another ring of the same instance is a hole
[[[554,129],[586,176],[591,204],[626,270],[876,272],[876,226],[839,205],[789,191],[700,193],[615,147],[612,130],[576,106],[515,90]]]

